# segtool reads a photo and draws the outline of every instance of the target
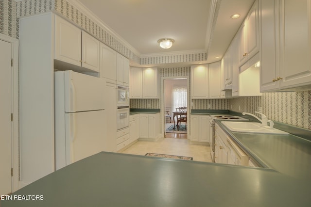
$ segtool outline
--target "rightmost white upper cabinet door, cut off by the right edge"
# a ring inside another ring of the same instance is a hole
[[[280,0],[280,87],[311,84],[311,2]]]

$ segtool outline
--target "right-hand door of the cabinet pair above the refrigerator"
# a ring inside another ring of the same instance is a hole
[[[100,42],[82,31],[82,67],[99,72]]]

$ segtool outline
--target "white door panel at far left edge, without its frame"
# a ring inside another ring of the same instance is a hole
[[[12,192],[11,43],[0,40],[0,195]]]

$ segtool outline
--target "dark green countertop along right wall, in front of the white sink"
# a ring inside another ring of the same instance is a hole
[[[215,120],[257,164],[311,184],[311,141],[293,134],[232,132]]]

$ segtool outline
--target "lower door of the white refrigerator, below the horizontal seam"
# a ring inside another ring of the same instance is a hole
[[[66,113],[66,165],[104,151],[105,111]]]

